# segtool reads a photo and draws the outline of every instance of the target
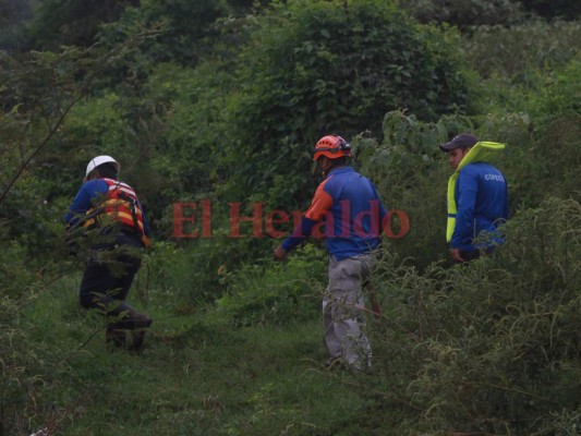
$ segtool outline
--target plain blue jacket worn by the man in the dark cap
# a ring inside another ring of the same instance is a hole
[[[455,198],[458,213],[450,241],[452,249],[477,251],[503,242],[498,234],[494,234],[508,219],[508,189],[500,171],[486,162],[463,167],[456,183]],[[483,231],[492,232],[492,240],[484,245],[474,244]]]

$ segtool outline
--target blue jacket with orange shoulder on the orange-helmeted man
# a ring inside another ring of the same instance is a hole
[[[330,171],[318,185],[311,207],[282,243],[290,251],[307,237],[324,237],[337,261],[375,250],[387,209],[374,184],[351,167]],[[325,229],[322,229],[322,226]]]

